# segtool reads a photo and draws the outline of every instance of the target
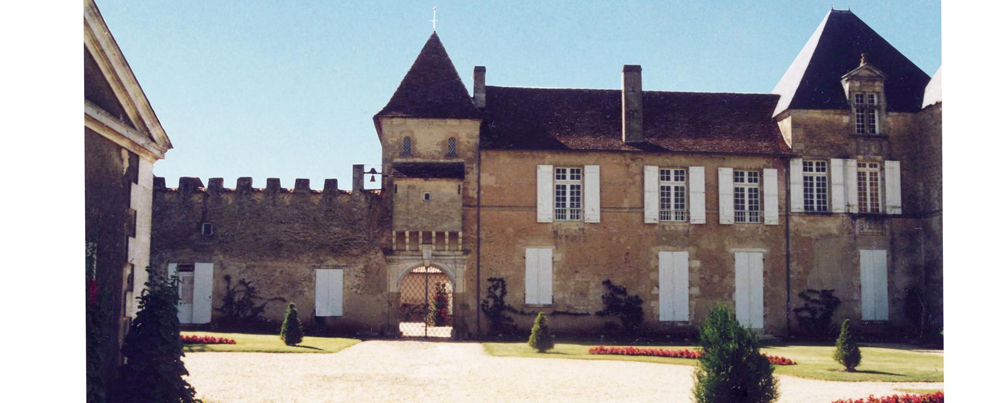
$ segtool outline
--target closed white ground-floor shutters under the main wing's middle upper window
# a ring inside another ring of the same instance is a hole
[[[658,252],[658,320],[689,320],[688,252]]]

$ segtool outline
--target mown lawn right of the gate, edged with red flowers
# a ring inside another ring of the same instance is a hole
[[[524,343],[484,343],[487,353],[498,357],[528,357],[577,360],[623,360],[644,363],[697,365],[697,360],[663,357],[590,355],[588,349],[598,345],[556,344],[547,353],[536,353]],[[644,347],[644,346],[636,346]],[[690,349],[695,346],[647,346],[655,349]],[[794,360],[797,365],[777,366],[774,374],[826,381],[884,381],[884,382],[943,382],[944,358],[941,355],[913,352],[895,348],[862,347],[858,372],[848,373],[833,361],[833,346],[779,346],[761,349],[765,354]]]

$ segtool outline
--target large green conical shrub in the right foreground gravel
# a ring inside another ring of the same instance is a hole
[[[724,303],[700,329],[703,355],[694,373],[697,403],[765,403],[777,399],[773,365],[759,353],[756,334],[742,327]]]

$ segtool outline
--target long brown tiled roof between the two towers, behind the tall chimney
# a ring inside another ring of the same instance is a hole
[[[782,154],[770,94],[645,91],[644,144],[623,143],[620,90],[487,87],[480,148]]]

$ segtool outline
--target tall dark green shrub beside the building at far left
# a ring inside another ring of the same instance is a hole
[[[123,342],[126,364],[119,369],[113,402],[200,402],[182,376],[182,340],[178,334],[177,279],[164,279],[147,268],[139,311]]]

